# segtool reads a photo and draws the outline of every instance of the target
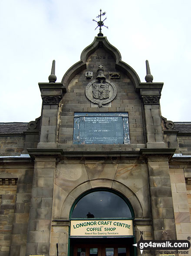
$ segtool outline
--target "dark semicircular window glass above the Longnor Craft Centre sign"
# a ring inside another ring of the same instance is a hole
[[[109,191],[94,191],[80,199],[72,218],[131,218],[126,202]]]

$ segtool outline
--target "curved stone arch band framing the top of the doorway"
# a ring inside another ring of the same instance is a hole
[[[105,186],[99,185],[100,181],[105,183]],[[93,180],[93,182],[94,186],[91,185],[91,181],[86,181],[74,188],[69,193],[61,207],[60,218],[69,219],[70,210],[76,199],[86,191],[90,191],[95,188],[108,188],[119,192],[121,195],[127,198],[132,205],[132,208],[135,212],[135,218],[143,218],[142,205],[131,189],[118,181],[113,181],[109,179],[96,179]]]

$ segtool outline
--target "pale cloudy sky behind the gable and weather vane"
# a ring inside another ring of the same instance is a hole
[[[153,82],[164,82],[161,114],[191,122],[190,0],[1,0],[0,122],[30,122],[41,114],[38,82],[57,81],[80,60],[99,30],[145,82],[149,61]]]

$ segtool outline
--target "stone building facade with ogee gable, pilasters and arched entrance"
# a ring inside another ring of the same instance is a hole
[[[39,118],[0,123],[0,256],[135,256],[141,235],[191,235],[191,123],[161,116],[147,68],[140,82],[95,37],[62,82],[53,66],[39,83]]]

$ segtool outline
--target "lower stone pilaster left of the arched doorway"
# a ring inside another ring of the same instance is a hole
[[[26,256],[49,256],[55,165],[55,157],[35,159]]]

